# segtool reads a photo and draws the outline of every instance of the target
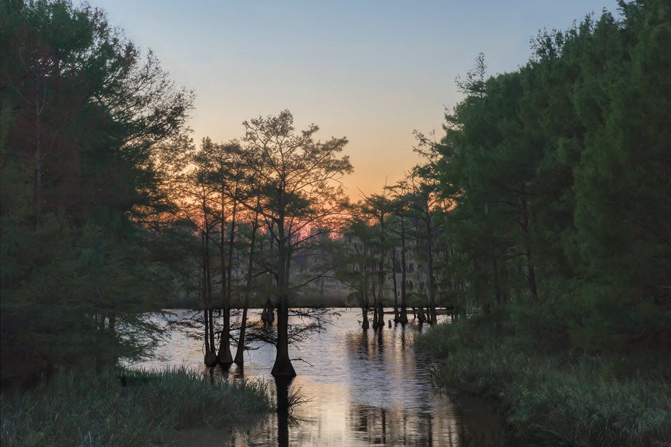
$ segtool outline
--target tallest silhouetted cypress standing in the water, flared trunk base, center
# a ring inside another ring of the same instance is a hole
[[[288,110],[277,116],[245,121],[242,143],[250,152],[250,182],[264,195],[261,214],[275,228],[274,274],[277,294],[277,356],[273,376],[295,376],[289,358],[289,295],[291,260],[301,244],[315,237],[310,226],[325,222],[340,210],[342,188],[338,179],[352,172],[347,156],[338,158],[345,138],[315,141],[314,124],[294,130]]]

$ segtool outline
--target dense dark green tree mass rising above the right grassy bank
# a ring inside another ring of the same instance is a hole
[[[456,304],[526,300],[520,325],[544,309],[590,352],[671,346],[671,10],[620,7],[540,34],[519,71],[479,56],[426,149]]]

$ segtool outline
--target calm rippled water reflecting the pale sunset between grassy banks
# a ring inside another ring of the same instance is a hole
[[[412,349],[422,328],[396,325],[374,332],[361,330],[361,313],[336,309],[331,324],[296,346],[290,346],[298,376],[289,385],[303,402],[291,413],[273,413],[241,430],[192,430],[182,444],[197,446],[449,446],[505,445],[500,417],[477,400],[442,393],[431,381],[431,358]],[[176,311],[186,318],[191,311]],[[250,312],[259,318],[260,311]],[[386,315],[387,320],[391,315]],[[428,326],[424,326],[425,328]],[[136,367],[186,365],[203,370],[203,342],[171,330],[156,358]],[[243,371],[233,365],[215,374],[273,382],[275,347],[256,344],[245,354]],[[233,350],[233,347],[231,347]],[[235,351],[233,350],[233,355]],[[274,386],[272,388],[275,388]],[[286,388],[280,386],[279,393]],[[236,421],[236,425],[243,422]]]

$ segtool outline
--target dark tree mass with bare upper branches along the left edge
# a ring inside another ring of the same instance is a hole
[[[117,327],[152,339],[136,312],[159,307],[169,285],[157,281],[166,268],[154,263],[156,237],[138,223],[160,205],[154,154],[178,138],[192,95],[101,10],[59,0],[0,8],[5,383],[140,353]]]

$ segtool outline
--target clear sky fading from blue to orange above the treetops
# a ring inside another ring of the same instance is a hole
[[[298,130],[347,137],[354,200],[421,161],[413,131],[440,138],[479,52],[488,74],[514,71],[540,30],[616,11],[615,0],[89,2],[196,92],[196,142],[240,138],[245,119],[289,109]]]

